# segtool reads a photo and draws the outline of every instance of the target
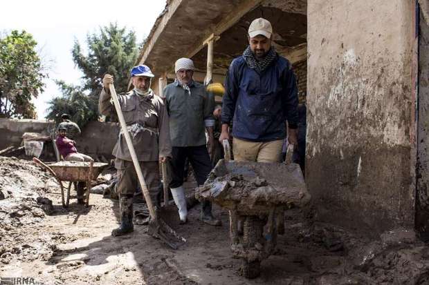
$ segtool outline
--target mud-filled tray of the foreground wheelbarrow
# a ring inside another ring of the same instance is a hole
[[[305,206],[311,195],[298,164],[221,159],[199,188],[197,198],[242,215],[268,215],[277,206]]]

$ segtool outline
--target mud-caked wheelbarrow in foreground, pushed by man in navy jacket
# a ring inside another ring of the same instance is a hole
[[[230,161],[229,144],[223,144],[226,159],[219,160],[196,197],[230,210],[232,253],[242,260],[242,274],[255,278],[261,262],[273,253],[280,228],[284,230],[284,210],[306,206],[311,195],[291,154],[286,164]],[[239,219],[244,222],[242,237],[237,231]]]

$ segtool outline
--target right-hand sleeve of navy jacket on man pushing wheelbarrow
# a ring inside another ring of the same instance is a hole
[[[293,73],[290,63],[283,72],[282,81],[284,82],[282,100],[284,119],[287,120],[289,128],[298,128],[298,88],[295,73]]]

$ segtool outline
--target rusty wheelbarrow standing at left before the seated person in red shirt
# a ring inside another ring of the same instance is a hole
[[[89,193],[91,191],[91,181],[97,179],[98,175],[101,173],[102,168],[108,164],[103,164],[100,162],[80,162],[80,161],[60,161],[55,164],[44,164],[42,161],[33,157],[33,161],[46,168],[46,170],[55,177],[58,184],[61,188],[61,202],[64,208],[69,207],[70,202],[70,190],[71,185],[75,186],[77,191],[77,201],[83,201],[86,206],[89,205]],[[67,192],[65,193],[63,181],[69,181],[69,186],[67,187]],[[77,183],[74,182],[86,182],[86,195],[81,196],[82,193],[79,193],[77,190]]]

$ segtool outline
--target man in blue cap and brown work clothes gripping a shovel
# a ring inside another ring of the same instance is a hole
[[[131,80],[134,89],[118,95],[118,101],[136,151],[136,157],[143,170],[150,198],[154,205],[158,205],[157,196],[160,185],[158,161],[165,163],[167,157],[172,155],[167,110],[162,99],[156,96],[150,88],[152,77],[154,75],[145,65],[132,68]],[[102,115],[111,115],[115,112],[109,91],[113,77],[105,75],[102,82],[103,90],[100,94],[98,108]],[[120,227],[113,230],[112,235],[118,236],[134,230],[133,196],[138,187],[138,175],[122,130],[116,146],[113,148],[113,155],[116,157],[115,168],[118,171],[119,179]]]

